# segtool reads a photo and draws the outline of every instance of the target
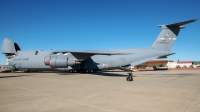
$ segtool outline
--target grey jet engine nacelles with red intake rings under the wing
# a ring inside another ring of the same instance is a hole
[[[66,68],[68,66],[81,64],[81,62],[65,55],[52,55],[44,58],[44,64],[51,68]]]

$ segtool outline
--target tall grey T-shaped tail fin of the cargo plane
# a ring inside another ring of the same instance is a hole
[[[173,24],[159,25],[159,27],[162,28],[162,31],[158,35],[151,48],[170,51],[174,42],[176,41],[180,29],[184,28],[182,25],[194,22],[196,20],[197,19],[192,19]]]

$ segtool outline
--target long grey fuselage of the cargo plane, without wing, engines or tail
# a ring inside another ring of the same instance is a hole
[[[119,68],[123,65],[128,65],[138,60],[145,60],[146,58],[154,58],[170,54],[169,51],[156,50],[151,48],[141,49],[120,49],[113,50],[115,52],[129,52],[125,55],[93,55],[81,61],[81,64],[66,66],[61,68],[52,68],[44,64],[45,56],[57,55],[52,50],[50,51],[18,51],[17,55],[11,59],[9,68],[14,65],[16,69],[28,70],[85,70],[85,69],[112,69]],[[59,53],[58,55],[63,55]],[[75,59],[75,57],[73,57]]]

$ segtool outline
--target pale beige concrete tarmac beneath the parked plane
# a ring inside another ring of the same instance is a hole
[[[0,73],[0,112],[200,112],[200,71]]]

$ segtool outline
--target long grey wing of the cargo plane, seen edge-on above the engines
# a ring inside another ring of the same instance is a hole
[[[62,53],[67,54],[71,53],[78,61],[83,61],[93,55],[127,55],[133,53],[124,53],[124,52],[117,52],[117,51],[103,51],[103,50],[68,50],[68,51],[54,51],[54,54]]]

